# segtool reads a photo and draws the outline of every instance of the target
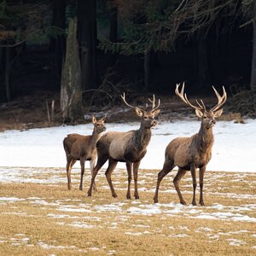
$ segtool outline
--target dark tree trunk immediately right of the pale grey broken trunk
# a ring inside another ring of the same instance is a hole
[[[96,0],[79,0],[82,89],[96,88]]]

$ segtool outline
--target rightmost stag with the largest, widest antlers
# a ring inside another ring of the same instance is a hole
[[[173,179],[174,187],[177,191],[179,201],[185,205],[183,195],[179,189],[179,182],[184,177],[186,172],[191,172],[193,181],[193,200],[192,205],[196,206],[195,189],[196,189],[196,169],[199,169],[199,183],[200,183],[200,205],[205,206],[203,200],[203,180],[206,172],[207,164],[212,158],[212,145],[214,141],[212,128],[216,124],[216,119],[223,113],[224,102],[227,100],[227,94],[223,86],[223,95],[220,96],[218,91],[212,86],[215,95],[218,98],[218,103],[207,111],[204,102],[196,100],[198,106],[191,104],[186,93],[184,94],[184,83],[182,90],[179,91],[177,84],[176,95],[190,108],[195,109],[195,114],[201,119],[201,127],[198,133],[192,137],[177,137],[173,139],[166,147],[165,162],[162,170],[158,173],[157,184],[154,194],[154,203],[158,203],[158,191],[160,182],[172,169],[177,166],[177,175]]]

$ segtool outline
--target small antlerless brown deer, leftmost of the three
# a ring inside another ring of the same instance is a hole
[[[96,163],[96,143],[100,137],[102,131],[106,131],[105,119],[96,120],[96,117],[92,116],[92,123],[94,129],[92,135],[80,135],[77,133],[68,134],[63,140],[63,146],[67,157],[67,189],[71,189],[71,169],[77,160],[81,165],[81,179],[79,189],[83,190],[83,176],[84,176],[84,163],[85,160],[90,160],[90,172],[93,173],[93,168]],[[96,185],[94,183],[94,189]]]

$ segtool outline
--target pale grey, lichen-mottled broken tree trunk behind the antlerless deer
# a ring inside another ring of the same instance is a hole
[[[61,75],[61,112],[63,122],[82,117],[81,69],[77,41],[77,18],[68,25],[66,59]]]

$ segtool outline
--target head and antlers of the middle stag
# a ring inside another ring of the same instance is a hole
[[[145,108],[138,108],[138,107],[131,106],[129,103],[126,102],[125,93],[123,96],[121,96],[121,98],[125,102],[125,105],[127,105],[130,108],[135,108],[135,112],[137,113],[137,116],[139,116],[142,120],[141,125],[143,125],[143,127],[149,129],[152,126],[157,125],[157,121],[154,118],[160,113],[160,109],[158,109],[160,107],[160,99],[158,100],[158,105],[155,107],[155,97],[153,95],[153,100],[148,99],[148,101],[152,103],[152,108],[151,110],[146,110],[146,108],[148,107],[148,104],[146,104]]]

